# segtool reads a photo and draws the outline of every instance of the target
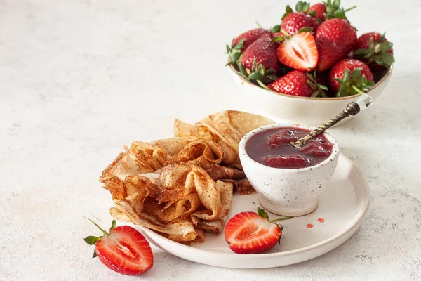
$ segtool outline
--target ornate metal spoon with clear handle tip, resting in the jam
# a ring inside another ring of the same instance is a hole
[[[371,103],[373,103],[373,98],[368,96],[366,93],[363,93],[355,101],[353,101],[352,103],[348,103],[347,108],[340,112],[340,114],[336,115],[328,122],[325,122],[324,124],[319,126],[319,128],[314,129],[304,138],[299,138],[297,141],[291,141],[290,145],[293,145],[294,148],[302,148],[302,145],[305,145],[307,141],[311,140],[315,136],[319,136],[321,133],[323,133],[323,131],[326,131],[331,126],[340,122],[340,120],[349,117],[349,115],[357,115],[360,112],[360,110],[366,109],[371,105]]]

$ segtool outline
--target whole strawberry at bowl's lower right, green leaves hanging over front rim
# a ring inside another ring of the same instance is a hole
[[[352,96],[368,91],[374,85],[373,74],[360,60],[346,58],[333,65],[329,84],[336,96]]]

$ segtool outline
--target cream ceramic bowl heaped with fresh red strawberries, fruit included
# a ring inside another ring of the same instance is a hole
[[[361,93],[378,98],[392,74],[393,44],[385,33],[357,34],[345,16],[354,8],[299,1],[295,11],[286,7],[280,25],[235,37],[227,65],[241,100],[285,122],[316,126]]]

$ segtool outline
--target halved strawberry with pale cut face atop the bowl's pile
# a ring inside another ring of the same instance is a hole
[[[303,71],[314,70],[319,59],[316,41],[310,32],[299,32],[292,37],[285,35],[276,55],[283,65]]]

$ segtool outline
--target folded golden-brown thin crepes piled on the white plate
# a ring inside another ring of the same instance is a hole
[[[203,242],[203,230],[221,233],[233,190],[250,187],[241,182],[239,141],[273,123],[229,110],[195,125],[176,119],[174,138],[124,146],[100,176],[114,200],[112,216],[183,243]]]

